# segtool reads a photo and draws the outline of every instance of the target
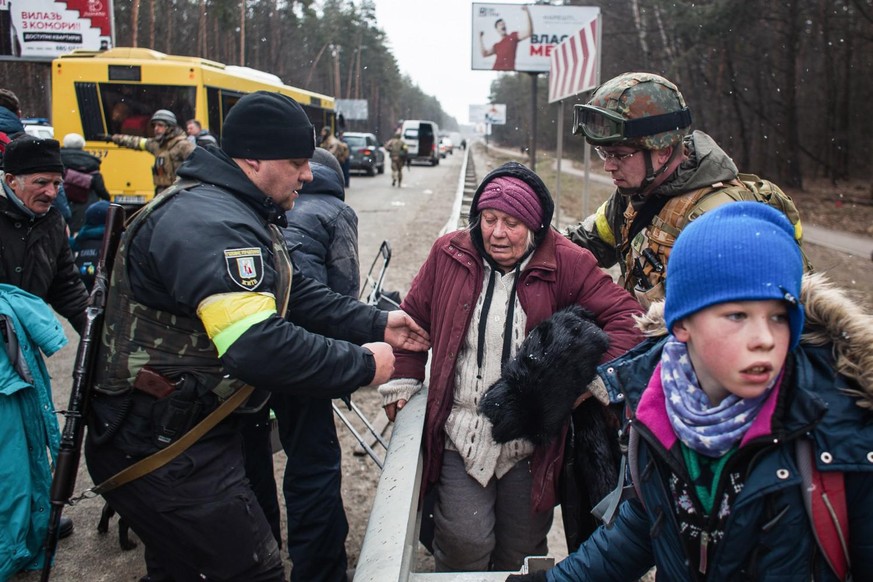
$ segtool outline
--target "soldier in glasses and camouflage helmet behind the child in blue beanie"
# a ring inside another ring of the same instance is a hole
[[[663,299],[670,250],[689,221],[727,202],[760,200],[710,136],[686,135],[690,126],[676,85],[650,73],[621,74],[575,107],[573,133],[595,146],[616,191],[566,234],[600,266],[618,263],[621,283],[644,307]]]

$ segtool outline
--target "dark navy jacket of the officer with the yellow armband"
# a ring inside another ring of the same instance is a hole
[[[234,249],[258,251],[263,263],[256,267],[255,291],[275,296],[278,273],[270,224],[285,226],[285,213],[217,148],[197,148],[179,176],[200,183],[162,204],[132,240],[124,241],[134,298],[152,309],[198,320],[204,299],[241,292],[233,279],[235,268],[224,254]],[[110,294],[107,310],[114,300]],[[333,293],[295,271],[287,317],[274,312],[249,325],[226,347],[220,363],[228,375],[259,389],[340,397],[372,381],[373,355],[355,344],[381,340],[386,323],[385,312]],[[98,421],[119,417],[123,400],[95,399],[92,409]],[[126,423],[114,445],[139,451],[144,436]]]

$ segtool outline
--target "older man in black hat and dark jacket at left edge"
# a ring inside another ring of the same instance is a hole
[[[52,203],[61,174],[60,144],[24,135],[6,146],[0,197],[0,283],[45,300],[80,334],[88,292],[73,261],[66,222]]]

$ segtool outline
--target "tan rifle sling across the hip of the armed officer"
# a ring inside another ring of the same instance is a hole
[[[109,479],[106,479],[99,485],[95,485],[94,487],[88,489],[87,493],[93,495],[102,495],[107,491],[112,491],[113,489],[120,487],[125,483],[130,483],[131,481],[139,479],[144,475],[148,475],[152,471],[160,469],[161,467],[184,453],[188,449],[188,447],[200,440],[200,437],[212,430],[215,425],[224,420],[227,415],[229,415],[235,409],[239,408],[239,406],[246,401],[246,399],[251,395],[253,391],[254,388],[246,384],[245,386],[237,390],[230,398],[222,402],[218,408],[210,412],[206,418],[198,422],[191,430],[179,437],[179,440],[175,441],[167,448],[161,449],[156,453],[152,453],[148,457],[137,461],[133,465],[125,467],[124,469],[122,469]]]

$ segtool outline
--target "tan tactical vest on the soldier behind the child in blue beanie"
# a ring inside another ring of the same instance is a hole
[[[632,205],[628,205],[622,226],[622,240],[626,241],[622,269],[625,289],[633,293],[645,308],[654,301],[662,300],[670,252],[682,229],[704,212],[728,202],[743,200],[763,202],[781,211],[794,225],[797,244],[802,244],[803,229],[794,201],[768,180],[762,180],[753,174],[739,174],[738,178],[730,182],[718,182],[670,198],[651,223],[630,241],[628,235],[637,211]],[[812,270],[802,246],[801,254],[806,270]]]

